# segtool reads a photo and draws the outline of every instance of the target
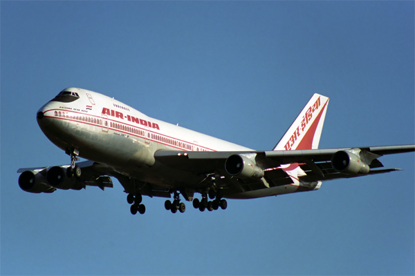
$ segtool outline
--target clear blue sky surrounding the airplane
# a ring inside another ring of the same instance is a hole
[[[122,187],[20,190],[68,164],[37,109],[75,86],[270,150],[313,93],[320,148],[414,143],[413,1],[1,1],[2,275],[414,275],[414,154],[400,172],[167,212]]]

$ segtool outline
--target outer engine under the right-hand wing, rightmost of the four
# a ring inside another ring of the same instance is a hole
[[[331,158],[331,166],[337,172],[365,175],[370,171],[369,165],[359,157],[360,150],[340,150]]]

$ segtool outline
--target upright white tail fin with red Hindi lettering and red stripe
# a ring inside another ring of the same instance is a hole
[[[273,150],[318,148],[329,98],[314,94]]]

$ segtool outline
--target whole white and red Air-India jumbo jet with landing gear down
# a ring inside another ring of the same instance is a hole
[[[322,181],[400,170],[378,158],[415,151],[414,144],[318,149],[328,105],[328,97],[314,94],[273,150],[257,151],[148,117],[98,92],[66,88],[36,117],[71,163],[19,168],[19,186],[29,193],[104,190],[115,177],[133,215],[145,213],[143,195],[167,198],[172,213],[185,212],[182,196],[203,212],[224,210],[226,199],[318,190]]]

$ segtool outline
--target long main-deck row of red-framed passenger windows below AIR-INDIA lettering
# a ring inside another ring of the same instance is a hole
[[[102,120],[101,119],[96,119],[93,117],[88,117],[88,116],[79,116],[79,115],[70,115],[68,113],[65,112],[57,112],[55,111],[55,116],[57,117],[64,117],[64,118],[68,118],[68,119],[75,119],[78,121],[85,121],[88,123],[93,123],[93,124],[99,124],[100,126],[102,126]],[[108,122],[105,121],[105,126],[108,126]],[[140,135],[142,137],[145,137],[145,132],[144,130],[140,130],[138,128],[131,128],[130,126],[125,126],[123,124],[116,124],[113,123],[112,121],[110,122],[109,126],[111,128],[116,128],[118,130],[123,130],[123,131],[127,131],[127,132],[131,132],[134,133],[136,135]],[[147,135],[148,138],[150,138],[150,134]],[[155,135],[153,133],[151,133],[151,139],[153,140],[157,140],[157,141],[161,141],[165,144],[170,144],[172,146],[178,146],[179,148],[185,148],[187,150],[196,150],[196,151],[208,151],[205,150],[204,148],[199,148],[198,146],[193,146],[191,144],[187,144],[187,143],[183,143],[181,141],[176,141],[174,139],[170,139],[161,135]]]

